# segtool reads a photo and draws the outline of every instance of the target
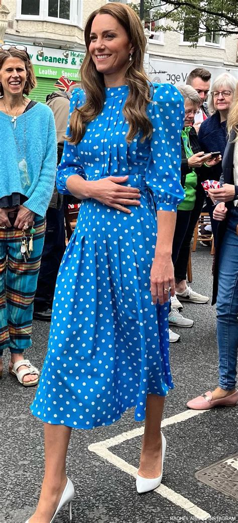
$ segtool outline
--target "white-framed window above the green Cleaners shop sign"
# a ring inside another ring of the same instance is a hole
[[[82,2],[83,0],[17,0],[17,18],[80,25]]]

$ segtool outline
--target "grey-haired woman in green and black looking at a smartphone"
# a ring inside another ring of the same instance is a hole
[[[221,156],[211,158],[211,153],[205,154],[201,150],[197,133],[192,126],[194,117],[199,109],[200,97],[190,85],[178,87],[184,97],[185,122],[182,130],[182,185],[185,189],[185,199],[177,209],[176,228],[173,241],[172,259],[175,267],[176,296],[171,298],[172,308],[183,308],[181,301],[192,303],[207,303],[208,296],[203,296],[187,286],[187,265],[190,252],[190,241],[200,215],[205,193],[201,181],[209,177],[210,169],[221,161]],[[173,310],[169,313],[169,324],[178,327],[191,327],[192,320],[184,319],[181,314]],[[185,324],[185,320],[187,324]]]

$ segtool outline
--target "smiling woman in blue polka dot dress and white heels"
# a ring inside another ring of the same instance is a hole
[[[109,425],[130,407],[136,420],[145,418],[138,492],[160,484],[160,425],[173,388],[168,288],[173,294],[172,240],[184,198],[183,100],[172,85],[146,79],[143,29],[128,6],[109,3],[90,15],[85,41],[85,90],[72,95],[57,178],[58,190],[82,204],[31,406],[45,422],[46,475],[30,523],[49,523],[54,514],[71,429]]]

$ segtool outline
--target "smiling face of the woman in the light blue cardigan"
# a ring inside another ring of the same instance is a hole
[[[20,58],[7,58],[0,69],[0,82],[4,95],[22,95],[27,79],[25,63]]]

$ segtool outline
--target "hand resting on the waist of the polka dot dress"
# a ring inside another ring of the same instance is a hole
[[[140,205],[140,190],[136,187],[120,185],[127,179],[128,176],[108,176],[90,182],[90,198],[130,214],[131,210],[125,206]]]

